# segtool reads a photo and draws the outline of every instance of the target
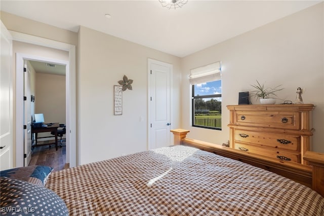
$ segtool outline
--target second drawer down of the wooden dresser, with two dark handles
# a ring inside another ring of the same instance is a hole
[[[258,146],[289,151],[300,150],[300,136],[295,135],[235,129],[234,139],[235,141],[252,143]]]

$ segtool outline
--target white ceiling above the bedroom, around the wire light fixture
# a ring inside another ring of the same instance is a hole
[[[184,57],[322,1],[3,1],[1,10],[71,31],[80,25]],[[110,14],[107,19],[105,14]]]

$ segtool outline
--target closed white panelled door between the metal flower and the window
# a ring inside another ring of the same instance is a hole
[[[149,59],[149,149],[170,146],[172,65]]]

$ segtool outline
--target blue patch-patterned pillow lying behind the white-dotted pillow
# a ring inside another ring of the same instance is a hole
[[[7,169],[0,172],[0,176],[26,181],[38,186],[45,186],[53,167],[49,166],[24,166]]]

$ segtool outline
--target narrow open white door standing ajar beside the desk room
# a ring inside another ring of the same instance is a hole
[[[25,69],[26,68],[26,69]],[[31,159],[31,94],[30,94],[30,70],[26,60],[24,61],[24,166],[28,166]]]

